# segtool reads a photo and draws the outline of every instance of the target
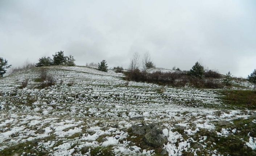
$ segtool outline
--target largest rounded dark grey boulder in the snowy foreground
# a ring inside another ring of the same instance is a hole
[[[150,132],[145,134],[144,140],[145,143],[152,146],[152,147],[157,147],[159,145],[162,145],[167,142],[167,138],[163,136],[162,132],[163,128],[160,126],[154,126]]]

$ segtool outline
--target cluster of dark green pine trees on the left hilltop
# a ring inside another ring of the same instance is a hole
[[[75,66],[75,59],[72,55],[65,56],[64,51],[58,51],[55,52],[55,55],[53,55],[53,59],[51,59],[49,56],[44,56],[39,59],[38,63],[36,63],[37,67],[59,65]]]

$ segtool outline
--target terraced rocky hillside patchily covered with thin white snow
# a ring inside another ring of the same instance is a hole
[[[44,89],[40,68],[0,79],[0,155],[256,155],[256,111],[227,104],[223,90],[127,82],[89,67],[47,69],[57,84]]]

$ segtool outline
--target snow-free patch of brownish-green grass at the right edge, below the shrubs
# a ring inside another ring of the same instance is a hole
[[[256,109],[256,90],[224,90],[222,93],[225,104]]]

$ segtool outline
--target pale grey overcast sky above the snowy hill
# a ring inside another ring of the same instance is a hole
[[[0,57],[13,66],[57,51],[77,65],[128,67],[149,52],[157,67],[220,73],[256,68],[255,0],[0,0]]]

